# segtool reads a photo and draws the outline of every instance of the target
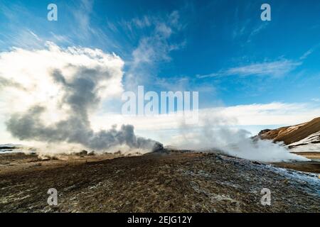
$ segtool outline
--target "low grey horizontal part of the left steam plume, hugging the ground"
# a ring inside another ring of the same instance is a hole
[[[134,135],[134,126],[131,125],[122,125],[119,130],[114,126],[108,131],[95,133],[86,118],[76,115],[45,126],[40,118],[44,110],[42,106],[34,106],[26,114],[14,114],[7,122],[8,130],[20,140],[80,143],[95,150],[107,150],[117,145],[152,150],[156,145],[154,140]]]

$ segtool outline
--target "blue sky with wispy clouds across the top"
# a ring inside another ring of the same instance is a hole
[[[58,21],[47,20],[50,3]],[[48,40],[114,52],[126,89],[198,91],[201,109],[319,106],[319,12],[319,1],[0,0],[0,50]]]

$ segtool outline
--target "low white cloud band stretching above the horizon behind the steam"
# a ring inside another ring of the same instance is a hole
[[[215,107],[199,110],[198,123],[189,124],[190,128],[200,128],[206,125],[203,119],[219,119],[216,126],[230,126],[248,128],[259,126],[264,129],[268,126],[291,126],[310,121],[320,116],[320,106],[309,104],[288,104],[274,102],[270,104],[249,104],[228,107]],[[92,118],[92,127],[98,131],[100,122],[107,119],[112,123],[131,123],[138,133],[143,136],[153,135],[154,139],[163,143],[172,143],[173,135],[178,135],[184,118],[174,114],[159,116],[122,116],[121,114],[101,114]]]

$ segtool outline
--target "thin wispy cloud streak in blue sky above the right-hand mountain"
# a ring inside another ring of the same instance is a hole
[[[292,72],[292,70],[295,70],[299,65],[302,65],[302,62],[293,60],[277,60],[274,62],[253,63],[251,65],[232,67],[228,70],[220,70],[219,72],[214,72],[211,74],[198,74],[197,77],[225,77],[233,75],[241,77],[251,75],[279,77]]]

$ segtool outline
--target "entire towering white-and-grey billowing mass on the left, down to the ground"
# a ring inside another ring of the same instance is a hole
[[[137,137],[134,126],[90,127],[90,114],[102,100],[121,94],[122,66],[116,55],[53,43],[46,50],[2,52],[0,92],[10,110],[7,130],[20,140],[76,143],[95,150],[118,145],[153,149],[159,143]]]

